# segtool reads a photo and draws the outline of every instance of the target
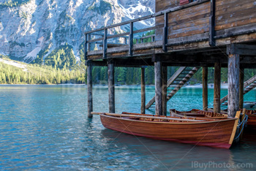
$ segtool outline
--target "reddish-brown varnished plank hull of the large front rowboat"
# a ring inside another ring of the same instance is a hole
[[[230,148],[236,119],[200,123],[152,122],[100,115],[103,126],[118,132],[157,140],[183,142],[214,148]],[[233,141],[233,140],[232,140]]]

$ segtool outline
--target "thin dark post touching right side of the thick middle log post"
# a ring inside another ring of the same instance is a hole
[[[162,115],[167,115],[167,66],[162,66]]]

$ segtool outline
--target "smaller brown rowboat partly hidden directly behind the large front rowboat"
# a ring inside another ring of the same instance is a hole
[[[207,118],[207,119],[223,119],[227,118],[227,114],[225,113],[214,113],[211,111],[206,111],[206,110],[197,110],[197,109],[192,109],[190,111],[178,111],[175,109],[170,109],[170,115],[172,116],[178,116],[182,118]]]

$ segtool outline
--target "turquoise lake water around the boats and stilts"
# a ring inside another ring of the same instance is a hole
[[[146,102],[152,96],[148,86]],[[93,97],[94,111],[108,112],[108,87],[94,86]],[[208,98],[212,107],[213,89]],[[229,150],[151,140],[105,129],[86,102],[83,85],[0,86],[0,170],[256,170],[255,132]],[[202,89],[181,88],[167,107],[201,109]],[[116,86],[123,111],[140,112],[140,86]]]

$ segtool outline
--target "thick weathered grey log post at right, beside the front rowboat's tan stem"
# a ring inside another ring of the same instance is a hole
[[[227,114],[229,118],[235,118],[236,111],[239,110],[239,55],[230,54],[228,56],[228,106]]]

